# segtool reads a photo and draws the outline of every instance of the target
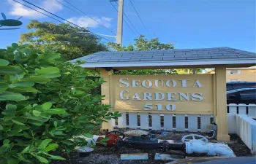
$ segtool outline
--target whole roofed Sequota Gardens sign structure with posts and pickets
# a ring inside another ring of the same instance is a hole
[[[102,104],[110,104],[110,111],[119,111],[122,128],[148,129],[161,128],[160,116],[164,114],[164,129],[173,130],[173,117],[197,132],[197,119],[200,131],[206,130],[210,117],[218,125],[217,140],[228,141],[226,68],[255,66],[254,52],[236,50],[229,47],[152,50],[131,52],[97,52],[76,60],[86,60],[81,64],[86,69],[99,70],[105,79],[102,84]],[[76,61],[72,60],[72,62]],[[203,69],[214,68],[215,74],[165,74],[165,75],[116,75],[113,70],[138,69]],[[199,116],[199,117],[198,117]],[[202,124],[204,123],[204,124]],[[156,125],[154,125],[156,124]],[[202,127],[202,125],[204,127]],[[113,129],[113,120],[102,124],[102,129]],[[176,130],[185,130],[185,125]]]

